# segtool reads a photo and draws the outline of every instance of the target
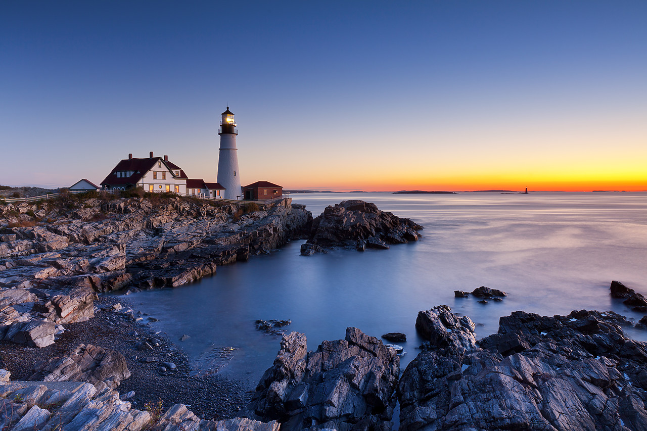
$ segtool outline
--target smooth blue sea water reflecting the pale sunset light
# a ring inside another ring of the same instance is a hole
[[[207,367],[217,348],[235,348],[221,372],[254,386],[271,366],[280,338],[256,330],[256,319],[291,319],[309,349],[343,338],[347,326],[369,335],[403,332],[406,364],[417,355],[418,311],[450,305],[470,316],[477,335],[498,329],[500,316],[574,309],[613,310],[636,320],[609,296],[611,280],[647,294],[647,193],[317,193],[293,195],[316,216],[329,204],[363,199],[424,226],[417,243],[390,250],[335,250],[300,256],[303,241],[272,254],[220,267],[217,275],[178,289],[131,294],[137,309]],[[503,302],[454,298],[481,285]],[[647,331],[628,329],[647,341]]]

